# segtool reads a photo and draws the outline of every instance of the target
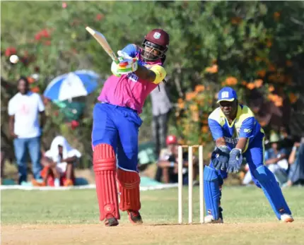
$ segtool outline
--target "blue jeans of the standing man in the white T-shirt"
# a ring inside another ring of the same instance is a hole
[[[15,149],[15,156],[18,165],[19,180],[27,181],[27,162],[28,153],[30,153],[30,160],[32,160],[32,171],[35,179],[40,179],[41,164],[40,164],[40,137],[35,138],[15,138],[13,140]]]

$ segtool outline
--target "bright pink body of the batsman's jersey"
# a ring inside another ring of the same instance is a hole
[[[136,57],[141,59],[140,54]],[[161,61],[146,62],[146,66],[161,65]],[[136,76],[135,73],[117,76],[110,76],[103,85],[98,100],[120,107],[129,107],[141,114],[146,97],[157,87],[156,83],[148,82]]]

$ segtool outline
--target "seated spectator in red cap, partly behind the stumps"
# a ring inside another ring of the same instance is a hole
[[[158,159],[158,168],[161,169],[164,183],[177,183],[178,182],[178,143],[176,136],[168,136],[166,138],[167,148],[160,152]],[[188,178],[188,153],[182,155],[183,158],[183,182],[187,184]],[[197,159],[194,157],[193,177],[197,177]]]

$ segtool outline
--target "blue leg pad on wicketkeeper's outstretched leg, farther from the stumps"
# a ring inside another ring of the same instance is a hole
[[[265,196],[267,197],[271,208],[274,210],[276,217],[281,220],[282,214],[291,215],[291,210],[285,201],[281,188],[276,182],[274,174],[265,166],[255,169],[255,177],[262,186]]]

